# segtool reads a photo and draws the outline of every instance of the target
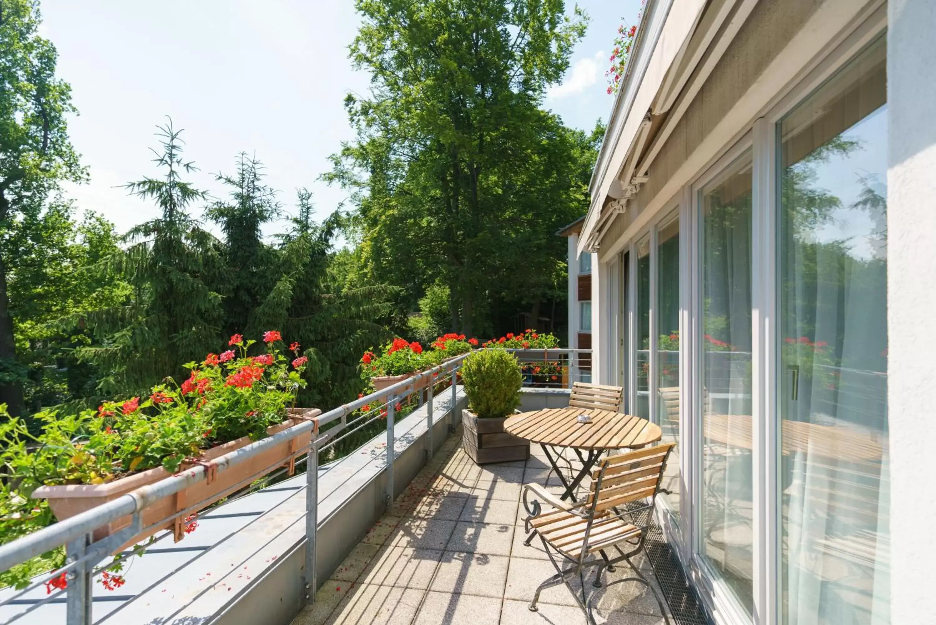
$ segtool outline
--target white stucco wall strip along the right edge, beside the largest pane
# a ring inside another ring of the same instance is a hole
[[[936,622],[936,3],[887,7],[891,620]]]

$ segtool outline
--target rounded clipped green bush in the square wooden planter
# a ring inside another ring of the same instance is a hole
[[[461,381],[470,409],[482,419],[505,417],[520,404],[520,365],[504,350],[477,350],[464,360]]]

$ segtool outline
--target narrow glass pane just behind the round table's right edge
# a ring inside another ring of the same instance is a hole
[[[656,345],[657,422],[664,442],[680,442],[680,216],[666,217],[657,228]],[[670,513],[680,519],[680,448],[666,464],[664,488]]]

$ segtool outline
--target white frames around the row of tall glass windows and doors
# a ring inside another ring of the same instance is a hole
[[[636,406],[636,243],[648,232],[651,241],[650,288],[650,409],[656,418],[656,349],[658,332],[655,314],[656,282],[658,279],[656,255],[658,253],[658,226],[672,211],[680,211],[680,272],[690,276],[680,284],[680,526],[670,522],[665,511],[659,511],[658,521],[666,539],[674,547],[688,576],[693,580],[709,614],[719,625],[779,625],[781,623],[781,546],[780,546],[780,484],[779,432],[776,406],[777,353],[777,125],[782,117],[795,108],[812,91],[835,72],[850,62],[858,52],[875,38],[880,37],[887,25],[884,2],[867,7],[860,18],[843,28],[833,37],[823,53],[812,59],[797,77],[777,89],[768,105],[754,115],[751,122],[736,136],[725,141],[724,148],[682,186],[669,201],[654,210],[648,222],[633,232],[602,264],[614,265],[614,284],[607,284],[614,296],[601,307],[614,305],[622,310],[611,313],[615,338],[614,349],[608,355],[613,359],[612,369],[621,376],[621,344],[626,358],[625,378],[608,379],[610,383],[624,383],[628,408]],[[753,202],[753,266],[752,266],[752,412],[753,412],[753,616],[735,598],[734,592],[698,557],[702,541],[701,506],[703,505],[702,479],[702,389],[700,371],[701,345],[701,259],[699,258],[698,190],[724,171],[745,150],[752,151]],[[623,255],[629,254],[626,292],[623,286]],[[601,260],[594,261],[601,263]],[[594,268],[592,267],[592,271]],[[606,274],[607,275],[607,274]],[[610,294],[610,293],[608,293]],[[624,302],[621,303],[621,298]],[[622,305],[623,304],[623,305]],[[603,313],[607,314],[607,313]],[[609,324],[612,325],[612,324]],[[688,487],[687,487],[688,485]],[[661,499],[661,503],[663,503]],[[666,504],[663,503],[663,506]],[[771,540],[771,537],[773,539]]]

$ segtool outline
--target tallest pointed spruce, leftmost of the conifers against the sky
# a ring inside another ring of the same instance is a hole
[[[196,171],[182,159],[183,141],[169,120],[159,126],[162,150],[154,163],[162,177],[126,185],[131,194],[153,200],[162,215],[139,224],[123,237],[125,249],[100,263],[101,271],[123,275],[133,295],[127,305],[88,315],[103,345],[80,349],[83,360],[107,372],[101,388],[131,393],[150,387],[181,365],[217,350],[224,311],[211,289],[223,271],[216,239],[187,209],[205,193],[183,181]]]

